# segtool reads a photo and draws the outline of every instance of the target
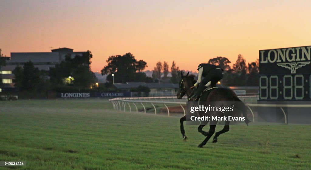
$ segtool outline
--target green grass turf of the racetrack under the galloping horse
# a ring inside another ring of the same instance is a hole
[[[100,99],[1,101],[0,161],[26,166],[0,169],[310,169],[310,127],[231,126],[200,149],[197,126],[182,141],[179,117]]]

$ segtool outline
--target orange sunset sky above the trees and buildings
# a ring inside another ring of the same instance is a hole
[[[217,56],[253,62],[260,49],[311,45],[310,8],[311,1],[2,0],[0,48],[7,56],[90,50],[93,71],[128,52],[146,70],[175,60],[195,71]]]

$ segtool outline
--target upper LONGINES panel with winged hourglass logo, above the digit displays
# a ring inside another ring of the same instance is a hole
[[[311,46],[259,51],[260,74],[310,73]]]

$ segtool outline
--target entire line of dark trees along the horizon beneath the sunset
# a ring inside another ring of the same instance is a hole
[[[0,49],[0,56],[1,56]],[[20,91],[89,91],[95,89],[105,91],[114,83],[126,82],[164,82],[179,83],[180,69],[173,61],[171,67],[164,61],[157,62],[152,70],[152,77],[146,76],[143,70],[148,67],[143,60],[137,60],[131,53],[110,56],[107,65],[101,70],[102,75],[107,75],[107,83],[101,87],[96,84],[95,74],[91,71],[90,64],[93,57],[90,51],[72,57],[65,56],[64,61],[50,67],[49,71],[39,70],[31,61],[17,66],[13,72],[14,86]],[[226,57],[211,58],[207,63],[217,65],[224,69],[224,78],[221,83],[226,86],[258,86],[259,85],[259,60],[246,64],[242,55],[238,55],[236,62],[230,66]],[[198,63],[200,64],[200,63]],[[0,68],[5,65],[4,57],[0,58]],[[169,76],[169,73],[171,76]],[[114,76],[112,76],[114,75]],[[0,87],[2,84],[0,75]],[[141,91],[141,90],[140,90]],[[148,91],[148,90],[147,90]]]

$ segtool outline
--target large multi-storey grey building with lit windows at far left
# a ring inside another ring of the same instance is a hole
[[[51,52],[30,52],[30,53],[11,53],[11,57],[6,61],[6,66],[1,67],[2,81],[4,87],[13,87],[14,75],[12,71],[17,67],[23,67],[25,62],[31,61],[39,70],[49,70],[55,64],[65,60],[65,56],[71,57],[82,55],[85,52],[73,52],[71,48],[52,49]]]

